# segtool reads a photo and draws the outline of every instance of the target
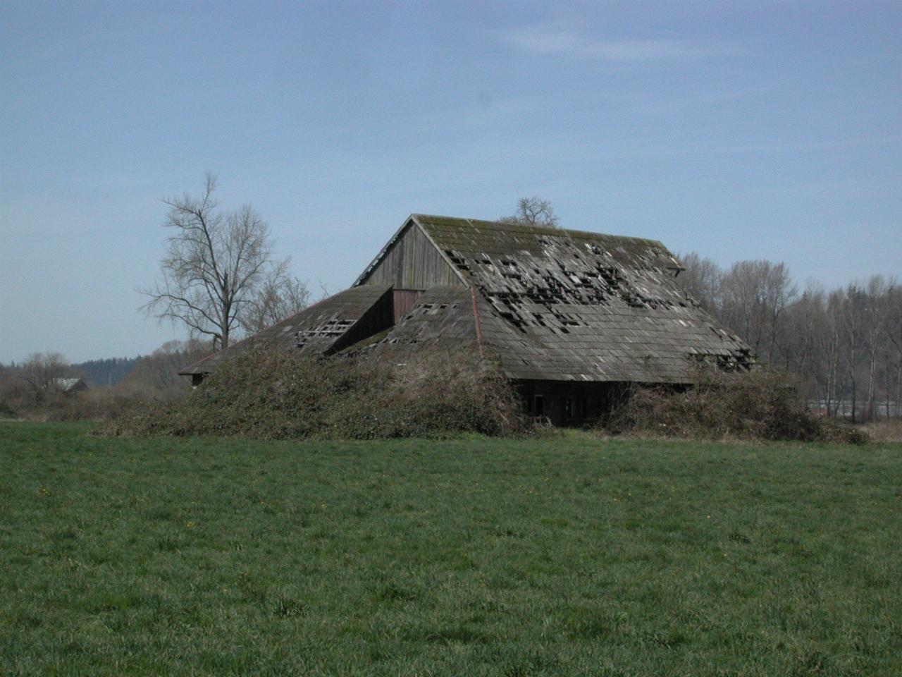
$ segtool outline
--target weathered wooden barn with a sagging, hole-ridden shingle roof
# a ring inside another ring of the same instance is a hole
[[[331,355],[467,347],[530,413],[581,422],[622,385],[748,369],[750,348],[676,283],[655,240],[413,214],[354,285],[187,367],[195,383],[261,343]]]

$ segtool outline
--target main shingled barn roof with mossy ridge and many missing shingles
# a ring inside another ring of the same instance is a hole
[[[676,283],[682,265],[656,240],[421,214],[410,221],[478,295],[467,309],[460,290],[442,292],[456,293],[456,303],[427,294],[383,347],[419,349],[424,332],[433,342],[461,327],[475,332],[478,316],[483,347],[511,378],[688,383],[699,362],[750,365],[750,348],[686,296]]]

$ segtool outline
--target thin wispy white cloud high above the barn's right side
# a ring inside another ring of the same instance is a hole
[[[609,63],[696,59],[717,50],[684,40],[595,40],[572,28],[540,24],[502,34],[522,51]]]

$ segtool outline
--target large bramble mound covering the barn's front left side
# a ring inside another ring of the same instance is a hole
[[[184,400],[150,404],[102,432],[374,439],[526,428],[501,372],[463,352],[397,364],[260,349],[219,366]]]

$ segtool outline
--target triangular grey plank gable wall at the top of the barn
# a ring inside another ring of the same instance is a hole
[[[393,284],[396,290],[427,290],[437,286],[464,286],[419,227],[411,224],[391,245],[364,284]]]

